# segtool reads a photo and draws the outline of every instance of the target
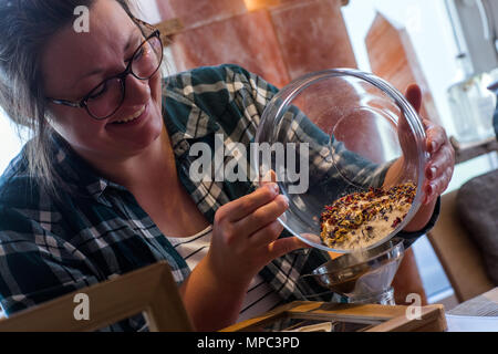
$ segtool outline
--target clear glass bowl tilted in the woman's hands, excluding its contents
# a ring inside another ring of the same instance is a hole
[[[320,236],[324,207],[371,187],[414,184],[415,197],[401,222],[360,248],[386,242],[422,204],[428,157],[424,142],[416,111],[390,83],[370,73],[333,69],[304,75],[271,100],[256,134],[251,164],[258,167],[260,184],[277,181],[289,198],[289,209],[279,218],[287,230],[321,250],[349,253],[352,248],[324,242]],[[385,179],[400,158],[403,168]]]

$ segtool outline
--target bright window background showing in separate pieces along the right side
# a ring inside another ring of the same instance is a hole
[[[365,37],[376,11],[394,23],[403,23],[415,49],[417,60],[433,94],[442,124],[448,135],[455,134],[446,96],[447,88],[456,82],[459,67],[455,60],[457,49],[444,1],[434,0],[350,0],[342,8],[359,69],[371,71],[365,48]],[[497,154],[477,157],[455,168],[448,191],[468,179],[498,167]],[[453,294],[452,285],[430,243],[424,236],[413,249],[429,302],[438,302]]]

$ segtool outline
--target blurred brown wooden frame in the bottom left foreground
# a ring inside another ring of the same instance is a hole
[[[74,296],[89,296],[90,320],[75,320]],[[145,313],[149,331],[193,331],[165,261],[40,304],[0,321],[0,332],[95,331]]]

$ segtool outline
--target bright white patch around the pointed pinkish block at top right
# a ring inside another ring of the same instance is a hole
[[[408,32],[443,124],[453,134],[446,90],[458,81],[460,72],[444,0],[351,0],[343,14],[359,66],[364,71],[370,71],[364,40],[376,11]]]

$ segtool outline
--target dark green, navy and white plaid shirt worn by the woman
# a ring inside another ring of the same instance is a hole
[[[238,142],[249,147],[277,88],[236,65],[180,73],[167,77],[164,88],[163,116],[179,178],[212,223],[220,206],[257,186],[251,181],[193,181],[190,145],[204,142],[214,147],[215,134],[221,134],[225,145]],[[298,116],[289,121],[289,128],[297,138],[308,140],[313,126]],[[159,260],[169,263],[174,279],[181,283],[190,270],[133,195],[92,170],[61,137],[54,135],[51,142],[54,169],[71,192],[61,189],[59,198],[46,195],[37,178],[29,176],[24,152],[0,179],[0,301],[6,313]],[[320,160],[318,170],[330,174],[328,153],[312,147],[311,154]],[[356,175],[377,178],[377,184],[382,184],[385,170],[362,164],[353,162],[351,168]],[[434,225],[436,217],[437,211],[426,229],[400,236],[413,241]],[[284,231],[282,236],[289,233]],[[323,290],[313,281],[300,282],[298,287],[297,279],[328,260],[325,252],[315,249],[297,250],[273,260],[260,275],[282,302],[301,300],[305,293]],[[110,329],[136,331],[144,324],[144,317],[138,315]]]

